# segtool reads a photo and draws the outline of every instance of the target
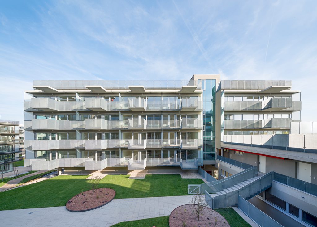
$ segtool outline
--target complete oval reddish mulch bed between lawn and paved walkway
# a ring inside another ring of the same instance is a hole
[[[69,199],[66,203],[66,209],[71,212],[90,211],[109,203],[116,192],[111,188],[98,188],[80,193]]]

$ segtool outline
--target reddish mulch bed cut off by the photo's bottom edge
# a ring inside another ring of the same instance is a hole
[[[204,206],[202,215],[197,216],[192,212],[190,204],[176,207],[170,214],[168,223],[170,227],[230,227],[227,220],[218,212]]]

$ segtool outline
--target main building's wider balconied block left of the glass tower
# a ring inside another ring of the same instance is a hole
[[[34,81],[33,87],[26,92],[31,99],[24,102],[26,162],[42,160],[41,165],[86,170],[197,169],[203,157],[215,164],[210,132],[207,138],[203,134],[204,116],[212,114],[210,104],[203,112],[203,92],[210,90],[203,91],[202,82],[194,77],[189,81]],[[210,129],[209,124],[206,130]],[[203,153],[203,146],[208,152]],[[64,164],[65,158],[74,163]]]

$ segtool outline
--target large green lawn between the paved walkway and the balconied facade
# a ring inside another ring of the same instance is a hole
[[[0,193],[0,210],[65,206],[73,196],[90,189],[87,176],[57,176]],[[201,179],[182,179],[180,175],[146,175],[145,179],[128,179],[129,175],[107,175],[99,187],[116,191],[115,199],[188,195],[188,184]],[[49,193],[49,194],[48,194]],[[23,201],[23,202],[21,202]]]

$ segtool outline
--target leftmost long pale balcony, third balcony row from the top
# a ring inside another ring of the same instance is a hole
[[[85,148],[85,140],[24,140],[24,149],[32,150],[57,150]]]

